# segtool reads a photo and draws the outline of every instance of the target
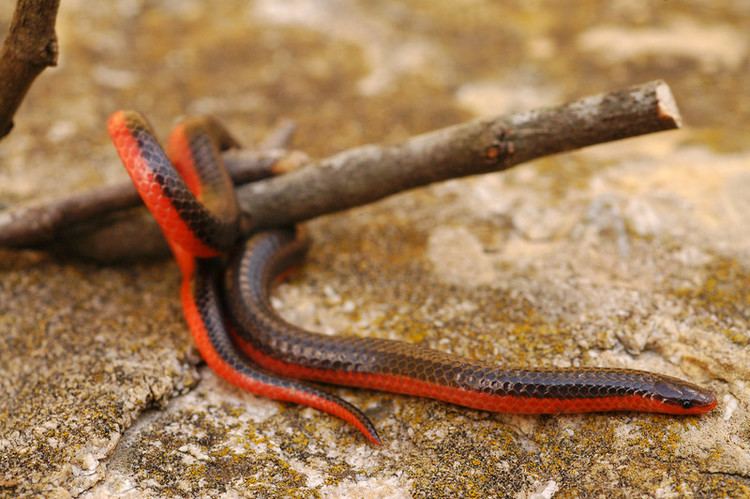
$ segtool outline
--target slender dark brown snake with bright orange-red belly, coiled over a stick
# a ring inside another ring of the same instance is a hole
[[[211,117],[179,123],[166,151],[136,111],[107,121],[117,153],[172,249],[183,314],[201,357],[218,376],[262,397],[309,406],[382,440],[360,409],[322,389],[343,385],[426,397],[510,414],[636,411],[698,415],[715,395],[664,374],[607,367],[515,367],[398,340],[324,335],[274,310],[273,286],[309,247],[297,227],[243,237],[222,151],[236,144]]]

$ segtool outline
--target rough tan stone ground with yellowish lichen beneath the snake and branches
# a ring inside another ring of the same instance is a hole
[[[0,496],[750,496],[747,2],[208,5],[63,0],[60,65],[0,144],[0,205],[122,180],[118,108],[163,133],[213,113],[248,144],[293,118],[323,156],[663,78],[686,129],[315,220],[275,300],[326,333],[690,378],[719,407],[519,417],[337,390],[373,448],[200,366],[173,263],[5,250]]]

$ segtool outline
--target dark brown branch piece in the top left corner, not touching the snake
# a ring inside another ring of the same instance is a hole
[[[59,0],[18,0],[0,51],[0,139],[13,128],[13,115],[31,83],[57,64],[55,19]]]

